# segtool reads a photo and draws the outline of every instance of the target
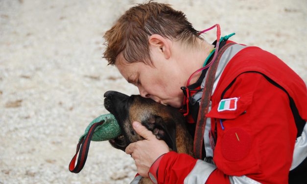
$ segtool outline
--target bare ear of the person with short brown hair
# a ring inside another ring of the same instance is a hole
[[[156,49],[156,51],[160,52],[164,55],[165,59],[169,59],[171,56],[170,44],[171,41],[165,39],[161,35],[153,34],[148,39],[149,47],[152,49]]]

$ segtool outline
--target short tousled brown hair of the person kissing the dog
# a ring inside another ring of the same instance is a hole
[[[185,14],[169,4],[148,2],[128,9],[105,35],[103,58],[115,65],[118,54],[127,62],[151,64],[148,38],[159,34],[192,44],[200,38]]]

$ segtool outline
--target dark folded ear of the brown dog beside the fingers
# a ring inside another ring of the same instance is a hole
[[[164,140],[169,148],[177,152],[176,123],[171,118],[152,116],[142,121],[142,125],[152,131],[158,139]]]

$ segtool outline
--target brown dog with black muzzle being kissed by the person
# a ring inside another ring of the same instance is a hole
[[[186,128],[183,115],[177,109],[140,95],[128,96],[108,91],[104,97],[105,108],[115,116],[122,131],[118,138],[109,140],[113,147],[125,151],[131,142],[142,140],[132,127],[133,121],[139,121],[158,139],[164,140],[170,150],[193,156],[193,139]],[[151,181],[148,178],[143,178],[140,182],[149,183]]]

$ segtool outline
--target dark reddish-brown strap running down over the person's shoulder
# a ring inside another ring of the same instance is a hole
[[[203,90],[203,95],[202,95],[200,107],[198,110],[198,117],[197,117],[195,136],[194,136],[194,155],[196,159],[202,159],[204,132],[205,132],[206,120],[207,120],[206,114],[208,113],[208,109],[209,109],[216,69],[217,69],[219,60],[221,56],[223,55],[224,51],[229,46],[232,46],[232,45],[234,44],[230,43],[222,47],[222,49],[217,53],[214,63],[208,70],[208,76],[206,78],[205,87]]]

